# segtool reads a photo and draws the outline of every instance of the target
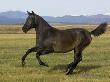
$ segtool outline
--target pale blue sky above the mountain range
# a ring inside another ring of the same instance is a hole
[[[110,0],[0,0],[0,12],[9,10],[42,16],[110,14]]]

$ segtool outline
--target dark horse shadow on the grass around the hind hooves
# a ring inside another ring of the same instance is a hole
[[[100,68],[100,67],[101,67],[100,65],[77,66],[76,69],[75,69],[76,71],[73,71],[73,74],[78,74],[78,73],[81,73],[81,72],[88,72],[92,69],[97,69],[97,68]],[[66,68],[67,68],[66,64],[58,64],[58,65],[54,66],[53,68],[51,68],[49,71],[52,72],[52,71],[61,70],[61,71],[65,72]]]

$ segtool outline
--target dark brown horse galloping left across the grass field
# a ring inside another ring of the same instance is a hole
[[[83,28],[71,28],[60,30],[49,25],[41,16],[28,12],[28,17],[22,27],[22,31],[27,33],[34,28],[36,31],[36,46],[28,49],[22,57],[22,66],[25,65],[25,58],[31,52],[36,52],[38,63],[48,66],[40,59],[41,55],[49,53],[66,53],[74,51],[74,58],[67,65],[66,75],[72,74],[78,63],[82,60],[82,51],[91,43],[92,35],[99,36],[106,31],[107,23],[101,23],[91,32]]]

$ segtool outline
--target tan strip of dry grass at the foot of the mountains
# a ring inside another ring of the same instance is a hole
[[[23,25],[0,25],[0,34],[24,34],[22,32],[22,26]],[[98,25],[65,25],[65,24],[58,24],[58,25],[52,25],[55,28],[58,29],[70,29],[70,28],[84,28],[89,31],[95,29]],[[108,26],[107,30],[110,31],[110,26]],[[28,34],[35,33],[34,29],[31,29]]]

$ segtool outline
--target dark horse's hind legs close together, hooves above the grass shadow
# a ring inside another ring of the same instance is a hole
[[[66,74],[71,74],[81,60],[82,51],[74,50],[74,61],[68,65]]]

